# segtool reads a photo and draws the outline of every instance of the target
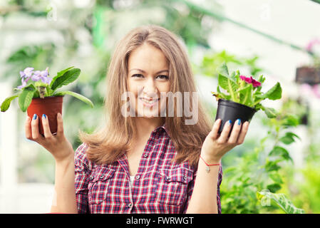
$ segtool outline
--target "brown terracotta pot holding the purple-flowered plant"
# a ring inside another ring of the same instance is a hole
[[[51,96],[45,98],[33,98],[29,108],[27,109],[27,113],[29,117],[33,118],[33,115],[38,115],[38,123],[39,123],[39,133],[43,134],[43,127],[42,127],[42,115],[46,114],[49,120],[49,126],[51,133],[56,135],[57,133],[57,114],[62,114],[62,102],[63,96]]]

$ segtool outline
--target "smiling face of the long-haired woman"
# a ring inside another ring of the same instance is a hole
[[[135,104],[131,103],[135,115],[160,117],[164,95],[170,90],[169,63],[162,51],[148,43],[135,48],[128,58],[127,84],[135,98]]]

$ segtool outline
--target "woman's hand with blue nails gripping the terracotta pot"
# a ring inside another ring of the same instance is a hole
[[[35,120],[31,120],[31,118],[27,116],[25,125],[26,138],[34,142],[38,142],[38,144],[42,145],[44,148],[46,148],[46,150],[51,152],[56,162],[70,159],[73,160],[73,147],[71,142],[66,139],[66,136],[63,133],[63,120],[61,113],[57,114],[58,129],[56,135],[52,135],[50,131],[48,115],[46,115],[46,118],[42,117],[40,120],[42,121],[43,125],[44,137],[39,133],[38,121],[38,116],[36,116]]]

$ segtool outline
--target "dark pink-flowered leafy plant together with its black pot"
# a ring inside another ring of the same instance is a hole
[[[277,82],[266,93],[262,92],[262,83],[265,78],[259,76],[258,80],[240,75],[239,71],[229,74],[227,65],[220,66],[217,92],[211,92],[218,101],[216,120],[221,119],[219,133],[222,132],[224,123],[231,120],[241,120],[242,123],[250,121],[258,110],[263,110],[268,118],[277,116],[274,108],[267,108],[261,104],[262,100],[278,100],[282,97],[282,88]],[[222,90],[227,93],[223,93]],[[231,131],[230,131],[231,132]]]

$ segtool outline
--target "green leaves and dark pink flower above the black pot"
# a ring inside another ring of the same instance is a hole
[[[232,72],[229,75],[227,65],[225,63],[220,66],[220,73],[218,76],[217,92],[211,92],[217,100],[220,98],[224,100],[232,100],[235,103],[247,105],[254,108],[256,111],[264,110],[268,118],[275,118],[276,111],[274,108],[264,107],[260,102],[264,99],[278,100],[282,97],[282,88],[280,83],[276,83],[266,93],[261,91],[262,83],[264,83],[264,76],[259,76],[258,80],[250,77],[240,75],[239,71]],[[220,88],[227,91],[223,93]]]

